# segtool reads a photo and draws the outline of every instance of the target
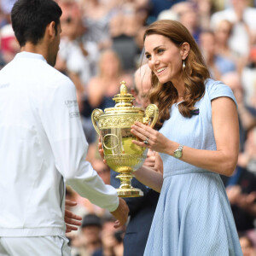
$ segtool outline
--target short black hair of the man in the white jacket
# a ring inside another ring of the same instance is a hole
[[[53,0],[18,0],[11,11],[11,20],[20,47],[26,42],[38,44],[51,21],[55,21],[57,32],[61,14],[60,6]]]

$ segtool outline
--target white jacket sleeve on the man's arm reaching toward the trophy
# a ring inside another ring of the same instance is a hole
[[[113,212],[119,205],[116,190],[99,177],[85,160],[88,143],[84,137],[75,87],[70,79],[46,89],[40,110],[44,131],[61,172],[79,195]]]

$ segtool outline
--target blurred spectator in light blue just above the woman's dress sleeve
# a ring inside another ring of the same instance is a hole
[[[212,31],[201,32],[199,42],[213,79],[219,80],[225,73],[236,71],[234,61],[216,54],[216,40]]]

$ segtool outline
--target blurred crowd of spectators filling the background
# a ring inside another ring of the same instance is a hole
[[[113,96],[141,66],[143,32],[154,20],[179,20],[189,29],[206,59],[212,78],[233,90],[240,121],[240,154],[235,174],[223,177],[244,255],[256,255],[256,1],[249,0],[56,0],[63,11],[61,44],[55,65],[77,88],[88,160],[105,183],[110,170],[97,153],[90,121],[94,108],[113,107]],[[0,0],[0,68],[20,50],[10,24],[15,0]],[[15,75],[15,74],[14,74]],[[125,227],[113,230],[109,212],[67,187],[84,216],[78,232],[67,236],[73,256],[122,255]]]

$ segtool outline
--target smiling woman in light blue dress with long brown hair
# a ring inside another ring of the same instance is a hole
[[[160,192],[145,256],[242,255],[230,203],[219,174],[232,175],[239,151],[236,99],[210,79],[189,31],[158,20],[144,36],[152,70],[150,101],[159,131],[136,123],[139,146],[160,152],[164,174],[143,166],[138,180]]]

